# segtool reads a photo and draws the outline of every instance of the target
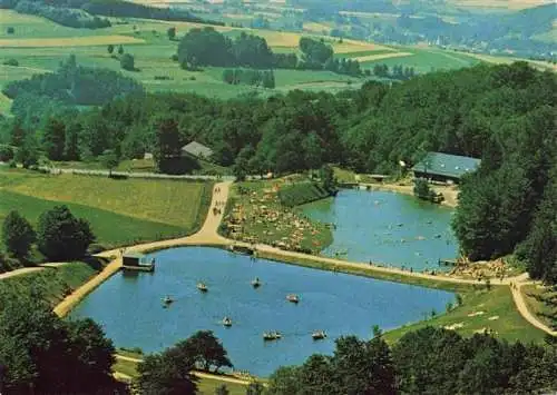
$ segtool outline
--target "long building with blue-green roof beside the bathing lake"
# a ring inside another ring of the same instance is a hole
[[[428,155],[412,168],[412,171],[416,178],[458,184],[463,175],[475,171],[479,167],[480,161],[480,159],[470,157],[428,152]]]

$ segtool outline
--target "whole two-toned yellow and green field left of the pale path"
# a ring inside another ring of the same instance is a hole
[[[91,224],[105,247],[184,236],[196,231],[208,210],[212,185],[170,180],[111,180],[2,171],[0,220],[13,209],[32,224],[65,204]]]

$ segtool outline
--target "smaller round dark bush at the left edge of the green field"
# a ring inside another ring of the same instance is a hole
[[[29,255],[36,234],[31,224],[18,211],[10,211],[2,224],[2,243],[6,250],[18,259]]]

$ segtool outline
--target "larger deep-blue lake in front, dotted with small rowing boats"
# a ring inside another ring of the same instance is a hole
[[[314,353],[330,354],[341,335],[371,336],[372,326],[394,328],[442,312],[452,293],[274,263],[207,247],[158,251],[154,274],[119,273],[90,294],[70,315],[91,317],[116,346],[158,352],[211,329],[237,369],[267,376],[278,366],[300,364]],[[252,288],[260,277],[263,285]],[[197,282],[209,290],[201,294]],[[286,302],[290,293],[300,304]],[[173,296],[169,308],[162,298]],[[229,316],[234,325],[219,320]],[[326,330],[325,340],[311,333]],[[264,343],[263,332],[283,338]]]

